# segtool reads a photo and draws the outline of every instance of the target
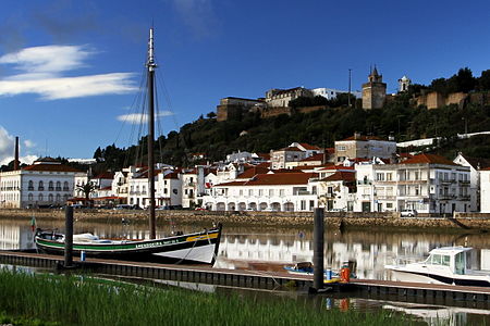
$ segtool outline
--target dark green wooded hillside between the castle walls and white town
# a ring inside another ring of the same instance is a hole
[[[335,140],[347,138],[355,131],[381,138],[392,135],[396,141],[445,137],[446,140],[438,152],[449,159],[453,159],[458,151],[490,158],[490,137],[456,139],[456,135],[463,134],[465,129],[468,133],[490,130],[489,105],[467,104],[464,109],[449,105],[427,110],[424,106],[413,108],[408,102],[408,96],[399,96],[380,110],[341,106],[273,118],[260,118],[257,114],[245,115],[242,121],[199,118],[182,126],[179,133],[171,131],[167,137],[160,137],[156,142],[156,150],[159,152],[156,158],[168,164],[192,166],[204,163],[193,162],[193,153],[206,153],[205,161],[213,162],[223,160],[233,151],[269,152],[293,141],[333,147]],[[98,170],[117,170],[123,165],[145,162],[145,138],[139,141],[139,149],[132,147],[122,150],[114,146],[97,149],[95,158],[103,161]]]

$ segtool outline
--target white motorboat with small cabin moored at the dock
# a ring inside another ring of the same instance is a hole
[[[424,262],[385,265],[396,280],[490,287],[490,272],[467,268],[468,247],[443,247],[430,251]]]

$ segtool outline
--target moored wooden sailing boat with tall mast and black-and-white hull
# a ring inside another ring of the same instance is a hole
[[[155,63],[154,29],[149,32],[148,61],[148,184],[149,184],[149,240],[100,239],[91,234],[73,236],[73,254],[127,261],[164,263],[213,264],[221,238],[221,224],[192,234],[176,234],[157,239],[155,216]],[[64,235],[52,230],[38,230],[35,236],[41,252],[63,254]]]

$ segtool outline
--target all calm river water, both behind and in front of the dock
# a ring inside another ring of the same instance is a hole
[[[42,228],[58,227],[62,223],[44,223]],[[169,234],[172,228],[192,231],[200,230],[204,225],[158,225],[158,236]],[[208,225],[209,227],[209,225]],[[75,233],[89,231],[100,237],[127,237],[143,239],[148,237],[146,225],[109,225],[86,224],[75,222]],[[384,271],[384,264],[393,263],[397,255],[409,255],[422,260],[428,252],[441,246],[466,244],[475,250],[470,256],[471,268],[490,269],[490,237],[486,234],[446,234],[422,231],[382,231],[382,230],[339,230],[326,231],[326,267],[340,268],[346,260],[355,261],[356,274],[359,278],[391,279]],[[28,221],[0,220],[1,249],[34,248],[33,233]],[[216,267],[246,268],[257,273],[282,271],[283,265],[301,261],[313,261],[313,228],[272,228],[272,227],[223,227],[223,237]],[[174,285],[170,281],[169,285]],[[179,286],[205,291],[226,291],[226,289],[209,285],[180,283]],[[342,298],[309,297],[297,291],[280,293],[294,297],[296,300],[313,301],[322,309],[339,310],[389,310],[403,312],[426,322],[429,325],[490,325],[489,303],[461,302],[458,306],[448,306],[444,302],[400,302],[396,298]],[[399,298],[400,300],[400,298]],[[453,304],[453,303],[451,303]]]

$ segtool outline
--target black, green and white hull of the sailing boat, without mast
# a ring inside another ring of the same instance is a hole
[[[63,254],[64,241],[53,233],[41,231],[35,237],[39,251]],[[155,240],[73,242],[73,254],[99,259],[144,261],[156,263],[213,264],[221,238],[221,225],[201,233],[186,234]]]

